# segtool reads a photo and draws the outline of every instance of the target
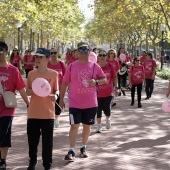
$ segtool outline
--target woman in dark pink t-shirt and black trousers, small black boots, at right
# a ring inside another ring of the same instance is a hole
[[[129,70],[129,85],[131,87],[131,106],[134,105],[135,88],[137,87],[138,107],[141,108],[141,91],[142,84],[145,84],[145,70],[139,62],[139,57],[135,57],[133,61],[134,65]]]

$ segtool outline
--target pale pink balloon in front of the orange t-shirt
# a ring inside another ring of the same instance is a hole
[[[32,82],[32,90],[37,96],[47,97],[51,93],[51,86],[46,79],[36,78]]]

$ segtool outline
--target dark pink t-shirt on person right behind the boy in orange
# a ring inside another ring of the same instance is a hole
[[[59,75],[59,88],[61,87],[63,76],[66,72],[66,66],[62,61],[58,61],[56,65],[52,65],[49,61],[47,67],[58,72]]]

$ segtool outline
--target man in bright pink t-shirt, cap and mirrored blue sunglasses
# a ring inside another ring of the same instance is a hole
[[[65,156],[65,160],[69,161],[75,158],[74,148],[80,123],[83,124],[80,155],[82,158],[88,157],[86,144],[98,105],[96,85],[106,83],[106,75],[101,67],[88,60],[89,53],[88,43],[80,42],[78,44],[79,58],[67,67],[60,90],[59,105],[64,108],[64,95],[69,85],[70,149]]]

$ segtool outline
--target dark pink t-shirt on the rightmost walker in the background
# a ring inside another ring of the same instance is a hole
[[[152,72],[153,68],[156,67],[156,61],[153,59],[145,60],[144,62],[144,68],[145,68],[145,78],[151,79],[152,78]]]

